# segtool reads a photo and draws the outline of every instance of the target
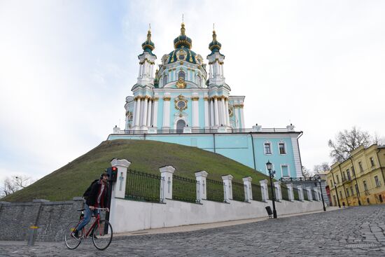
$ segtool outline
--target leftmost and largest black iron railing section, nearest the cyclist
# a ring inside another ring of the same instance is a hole
[[[117,187],[121,186],[120,181]],[[155,174],[127,170],[125,198],[145,202],[162,202],[160,186],[162,177]]]

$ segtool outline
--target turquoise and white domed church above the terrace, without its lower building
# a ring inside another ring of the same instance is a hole
[[[158,130],[181,132],[244,128],[244,96],[230,96],[225,81],[221,43],[209,43],[211,53],[207,64],[192,50],[193,41],[186,36],[182,23],[181,34],[174,39],[174,50],[163,55],[155,71],[155,44],[148,30],[147,40],[139,55],[139,75],[132,87],[133,97],[126,98],[125,130]]]

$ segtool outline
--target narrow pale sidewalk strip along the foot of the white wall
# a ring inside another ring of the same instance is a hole
[[[326,211],[335,211],[337,209],[339,209],[339,207],[327,207]],[[281,215],[281,216],[278,216],[278,218],[301,216],[304,214],[316,214],[318,212],[323,212],[323,210],[303,212],[300,214]],[[151,234],[164,234],[164,233],[175,233],[175,232],[188,232],[188,231],[194,231],[194,230],[204,230],[207,228],[221,228],[221,227],[227,227],[230,225],[239,225],[239,224],[253,223],[258,221],[266,221],[266,220],[269,220],[269,218],[266,218],[266,217],[248,218],[248,219],[241,219],[237,221],[222,221],[222,222],[215,222],[215,223],[195,224],[195,225],[180,225],[178,227],[169,227],[169,228],[151,228],[147,230],[137,230],[133,232],[115,233],[113,234],[113,236],[121,237],[121,236],[132,236],[132,235],[151,235]]]

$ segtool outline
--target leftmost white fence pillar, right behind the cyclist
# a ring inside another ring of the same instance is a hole
[[[118,204],[116,198],[125,198],[126,190],[126,178],[127,178],[127,168],[130,167],[131,162],[125,159],[113,159],[111,161],[111,166],[118,168],[118,177],[116,182],[112,184],[112,194],[111,194],[111,204],[110,204],[110,222],[113,225],[113,228],[116,228],[118,225],[118,219],[121,218],[118,213]]]

